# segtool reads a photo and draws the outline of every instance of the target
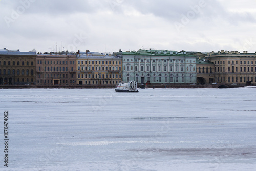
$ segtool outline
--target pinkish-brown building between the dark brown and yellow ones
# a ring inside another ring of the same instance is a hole
[[[36,56],[37,85],[76,85],[76,55],[67,53]]]

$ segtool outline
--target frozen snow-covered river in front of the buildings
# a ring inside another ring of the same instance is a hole
[[[0,170],[255,170],[255,92],[0,89]]]

